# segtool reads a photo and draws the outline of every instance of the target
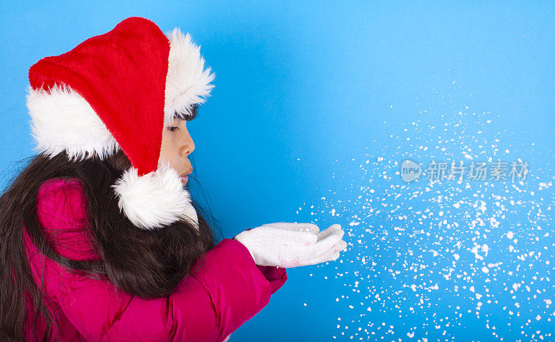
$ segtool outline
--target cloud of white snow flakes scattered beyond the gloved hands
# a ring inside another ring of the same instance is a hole
[[[527,160],[527,179],[515,182],[403,182],[407,158],[522,162],[518,153],[533,148],[490,128],[498,114],[427,95],[441,96],[441,107],[417,110],[402,127],[385,113],[384,139],[337,161],[350,172],[335,179],[350,186],[297,212],[302,221],[309,207],[307,220],[345,230],[341,258],[317,266],[344,287],[329,298],[341,312],[333,338],[469,341],[481,327],[490,335],[479,341],[555,341],[553,172]]]

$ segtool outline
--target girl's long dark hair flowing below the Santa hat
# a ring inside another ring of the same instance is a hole
[[[191,155],[192,157],[192,155]],[[139,298],[169,296],[178,282],[195,270],[192,264],[214,247],[216,229],[221,229],[214,216],[196,200],[189,183],[187,188],[198,215],[198,230],[182,220],[157,230],[135,227],[117,206],[112,185],[130,167],[126,155],[119,151],[105,160],[98,158],[70,161],[67,153],[54,157],[36,155],[26,158],[22,171],[10,180],[11,185],[0,196],[0,340],[24,341],[26,296],[35,309],[33,327],[42,316],[46,323],[44,336],[53,334],[52,323],[58,322],[46,309],[42,289],[35,284],[24,250],[22,223],[41,253],[69,271],[109,280],[117,288]],[[192,162],[193,160],[191,160]],[[194,168],[196,171],[196,167]],[[45,238],[37,219],[35,203],[40,185],[46,180],[77,178],[87,197],[92,248],[101,259],[76,261],[56,253]],[[197,182],[198,184],[198,182]],[[60,330],[57,329],[60,337]]]

